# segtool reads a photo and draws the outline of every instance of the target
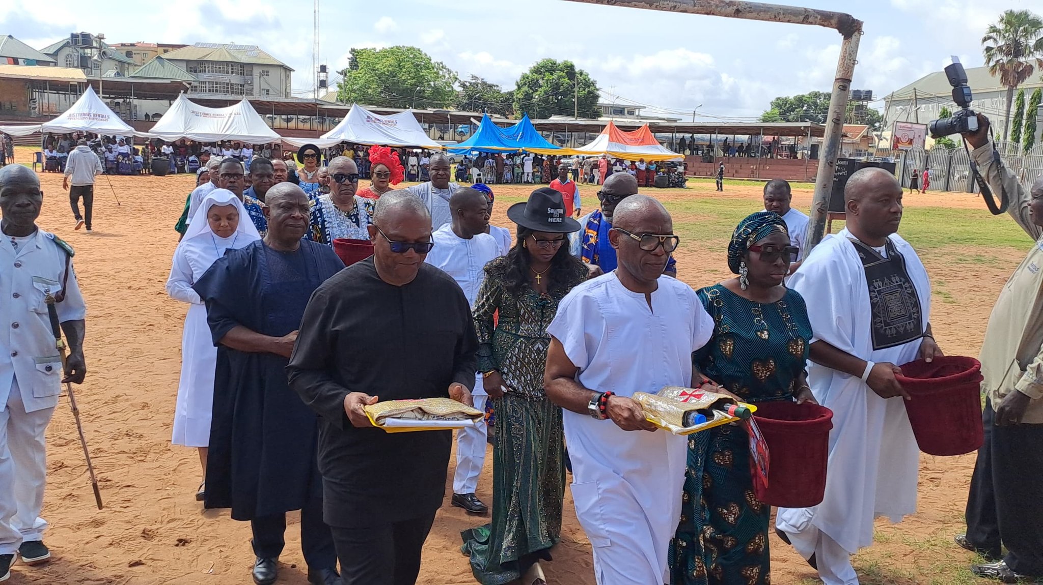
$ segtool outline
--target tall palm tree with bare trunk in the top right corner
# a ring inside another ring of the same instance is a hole
[[[1033,75],[1036,67],[1043,69],[1043,19],[1028,10],[1006,10],[996,24],[989,25],[981,44],[985,45],[985,63],[989,66],[989,73],[999,77],[1006,86],[1006,112],[1003,117],[1005,141],[1014,90]]]

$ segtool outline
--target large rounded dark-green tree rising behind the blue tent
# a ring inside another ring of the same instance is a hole
[[[600,99],[598,83],[573,61],[543,59],[518,78],[514,112],[535,119],[572,116],[575,104],[580,118],[600,118]]]

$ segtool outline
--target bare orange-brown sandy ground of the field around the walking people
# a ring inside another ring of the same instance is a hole
[[[195,451],[169,442],[186,306],[167,297],[164,283],[176,245],[172,227],[193,177],[114,177],[112,188],[102,178],[96,186],[93,235],[73,231],[60,177],[44,174],[42,181],[46,196],[40,225],[75,247],[77,275],[89,307],[89,374],[77,397],[105,509],[95,509],[75,425],[63,399],[48,431],[44,510],[51,524],[46,538],[54,558],[37,568],[17,565],[10,583],[250,583],[253,557],[248,526],[229,519],[224,511],[201,509],[193,499],[200,477]],[[593,190],[583,187],[586,201],[595,201]],[[498,192],[522,196],[528,189],[501,187]],[[735,187],[715,195],[712,185],[700,185],[688,192],[663,192],[662,197],[723,197],[749,205],[752,211],[759,205],[759,187]],[[810,195],[798,193],[795,199],[796,205],[806,207]],[[976,205],[973,198],[954,201],[951,195],[922,196],[909,203]],[[505,209],[506,205],[498,207],[493,223],[510,225]],[[681,278],[690,284],[722,278],[723,265],[714,265],[713,273],[700,268],[712,262],[707,262],[698,245],[686,244],[679,256]],[[940,253],[924,258],[932,277],[946,281],[955,300],[937,303],[933,319],[938,339],[949,353],[976,355],[989,308],[1020,259],[1009,256],[972,266],[977,279],[967,278],[967,265],[944,263]],[[709,257],[721,258],[723,263],[723,250],[713,250]],[[489,502],[491,448],[486,461],[479,495]],[[919,513],[896,528],[879,525],[879,542],[857,558],[864,583],[953,583],[937,577],[972,560],[970,554],[944,542],[963,529],[973,456],[924,456],[922,463]],[[452,485],[446,492],[452,492]],[[460,531],[476,524],[480,524],[477,518],[446,502],[425,549],[420,583],[474,583],[458,546]],[[281,583],[307,582],[296,526],[297,518],[291,514]],[[802,583],[814,577],[774,537],[771,545],[775,583]],[[589,543],[567,495],[562,541],[554,558],[544,563],[552,583],[593,583]]]

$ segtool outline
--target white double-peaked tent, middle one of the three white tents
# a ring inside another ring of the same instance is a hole
[[[185,94],[177,96],[148,133],[168,143],[189,138],[199,143],[234,141],[263,145],[281,139],[245,98],[228,107],[205,107],[193,103]]]

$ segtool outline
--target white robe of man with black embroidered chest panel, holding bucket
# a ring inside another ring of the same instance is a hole
[[[826,236],[790,277],[804,297],[815,331],[841,351],[874,362],[901,365],[917,359],[922,339],[873,350],[872,311],[862,260],[847,229]],[[891,236],[905,259],[920,299],[922,326],[930,315],[930,282],[916,251]],[[807,382],[822,406],[833,411],[825,500],[812,508],[780,508],[777,526],[808,558],[818,532],[854,554],[873,542],[873,518],[900,522],[916,511],[920,450],[901,398],[882,399],[858,377],[808,361]],[[821,561],[820,561],[821,568]]]

